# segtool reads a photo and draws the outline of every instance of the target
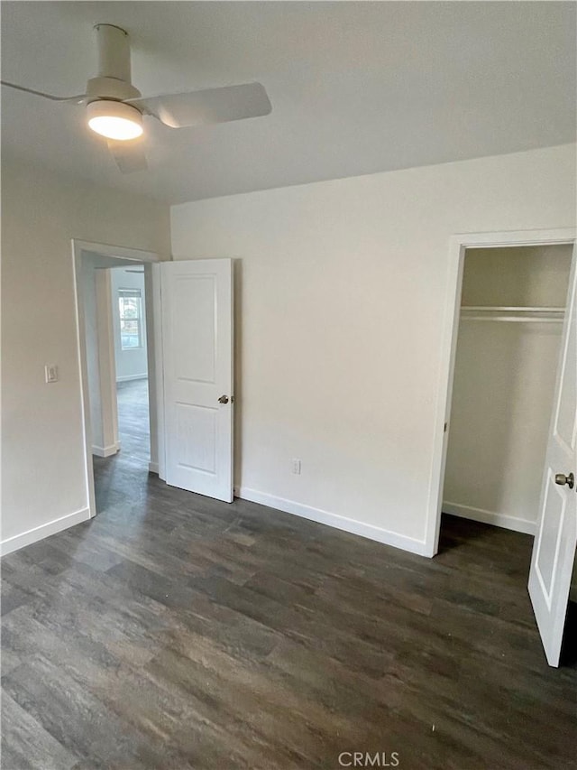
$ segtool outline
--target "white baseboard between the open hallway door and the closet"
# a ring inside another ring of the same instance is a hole
[[[248,500],[251,503],[260,503],[261,506],[276,508],[278,511],[282,511],[285,514],[301,516],[304,519],[318,522],[318,524],[328,524],[328,526],[332,526],[335,529],[341,529],[344,532],[359,534],[361,537],[366,537],[369,540],[376,540],[378,543],[384,543],[385,545],[392,545],[394,548],[400,548],[403,551],[418,553],[420,556],[431,555],[426,551],[426,543],[424,540],[415,540],[404,534],[390,532],[387,529],[381,529],[373,524],[364,524],[355,519],[349,519],[346,516],[332,514],[321,508],[303,506],[301,503],[295,503],[293,500],[286,500],[284,497],[269,495],[266,492],[259,492],[256,489],[249,489],[248,487],[234,487],[234,495],[241,497],[243,500]]]

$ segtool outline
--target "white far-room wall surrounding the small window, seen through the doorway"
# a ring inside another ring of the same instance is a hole
[[[135,273],[141,270],[142,273]],[[147,376],[148,362],[146,349],[146,292],[144,289],[144,268],[116,267],[110,271],[112,287],[112,311],[114,324],[114,360],[116,362],[116,382],[135,380]],[[119,289],[140,289],[142,296],[142,348],[123,350],[120,340],[120,311],[118,307]]]

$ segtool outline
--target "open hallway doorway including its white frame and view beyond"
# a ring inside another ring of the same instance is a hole
[[[91,515],[134,498],[158,472],[151,262],[136,249],[73,241]]]

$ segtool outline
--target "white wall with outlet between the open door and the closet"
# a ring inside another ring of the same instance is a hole
[[[564,145],[173,207],[175,258],[239,261],[242,495],[425,552],[450,237],[574,227],[574,169]]]

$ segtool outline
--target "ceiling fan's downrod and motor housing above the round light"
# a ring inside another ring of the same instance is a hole
[[[131,83],[128,33],[113,24],[96,24],[98,74],[87,82],[88,100],[138,98],[141,92]]]

